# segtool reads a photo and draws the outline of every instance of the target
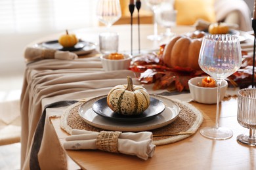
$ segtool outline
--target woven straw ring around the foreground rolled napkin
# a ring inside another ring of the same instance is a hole
[[[96,139],[96,147],[99,150],[118,153],[117,139],[121,131],[100,131]]]

